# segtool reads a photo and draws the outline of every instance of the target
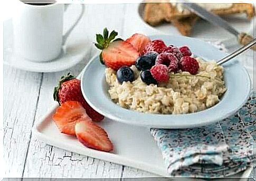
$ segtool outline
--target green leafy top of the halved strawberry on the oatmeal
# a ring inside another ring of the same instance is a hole
[[[102,34],[96,34],[96,42],[94,43],[94,45],[97,47],[97,49],[101,50],[99,58],[100,58],[100,62],[104,65],[104,60],[102,57],[102,52],[104,49],[107,49],[107,47],[109,46],[109,44],[111,42],[115,42],[115,41],[120,41],[122,39],[117,38],[116,36],[118,35],[118,33],[113,30],[110,34],[108,32],[108,29],[105,27],[103,30],[103,35]]]

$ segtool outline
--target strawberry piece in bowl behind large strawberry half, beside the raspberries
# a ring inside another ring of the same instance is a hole
[[[139,54],[141,55],[143,53],[143,50],[145,48],[145,46],[151,42],[151,40],[149,39],[149,37],[147,37],[144,34],[139,34],[136,33],[134,35],[132,35],[131,37],[129,37],[126,42],[129,42],[130,44],[132,44],[132,46],[135,47],[135,49],[139,52]]]

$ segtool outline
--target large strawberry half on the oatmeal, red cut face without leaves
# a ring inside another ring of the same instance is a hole
[[[121,66],[131,66],[135,64],[139,57],[138,51],[126,41],[115,41],[102,51],[102,58],[105,65],[114,70]]]

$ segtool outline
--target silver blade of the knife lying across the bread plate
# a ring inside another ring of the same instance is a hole
[[[237,30],[235,30],[235,28],[233,28],[229,23],[223,20],[220,16],[215,15],[211,12],[208,12],[206,9],[197,5],[196,3],[183,3],[183,5],[189,10],[191,10],[193,13],[195,13],[196,15],[202,17],[204,20],[224,28],[225,30],[232,33],[233,35],[238,36],[240,34]]]

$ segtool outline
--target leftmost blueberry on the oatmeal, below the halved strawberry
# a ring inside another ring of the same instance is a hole
[[[134,71],[129,66],[122,66],[117,71],[117,80],[119,83],[132,82],[134,80]]]

